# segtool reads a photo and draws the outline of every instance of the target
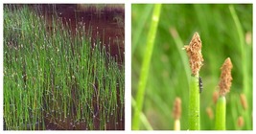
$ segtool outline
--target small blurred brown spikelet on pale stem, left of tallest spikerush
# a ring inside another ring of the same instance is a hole
[[[173,116],[175,118],[175,130],[180,130],[180,116],[181,116],[181,100],[180,98],[175,98]]]

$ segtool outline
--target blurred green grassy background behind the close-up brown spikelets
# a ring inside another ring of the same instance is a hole
[[[231,13],[230,8],[235,12]],[[135,99],[153,5],[132,5],[132,98]],[[234,18],[238,18],[235,21]],[[203,130],[214,129],[206,108],[215,113],[212,100],[218,90],[221,65],[230,57],[233,63],[232,86],[227,94],[226,129],[252,129],[252,5],[170,4],[162,5],[155,44],[151,56],[140,129],[174,129],[172,116],[175,97],[182,101],[181,129],[188,129],[188,101],[191,70],[182,47],[198,32],[202,41],[203,66],[200,77],[200,124]],[[240,94],[244,93],[248,108],[244,110]],[[132,107],[132,113],[134,107]],[[132,115],[133,116],[133,115]],[[244,117],[244,126],[237,120]],[[148,124],[148,125],[149,125]]]

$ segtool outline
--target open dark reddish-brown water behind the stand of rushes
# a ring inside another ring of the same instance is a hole
[[[68,23],[72,32],[76,32],[78,22],[85,23],[85,29],[91,29],[92,38],[100,37],[108,50],[110,44],[110,56],[121,57],[117,59],[119,64],[123,64],[125,59],[125,9],[124,5],[116,8],[105,6],[101,10],[96,6],[82,7],[78,4],[58,4],[58,5],[31,5],[33,9],[42,12],[48,19],[48,28],[52,28],[52,15],[57,13],[63,18],[63,24]]]

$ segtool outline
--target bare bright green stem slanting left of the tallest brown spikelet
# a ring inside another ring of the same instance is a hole
[[[147,49],[145,51],[145,56],[142,63],[142,69],[141,69],[140,80],[138,85],[138,92],[136,96],[137,107],[134,108],[134,115],[132,118],[132,129],[139,129],[139,125],[140,125],[139,116],[143,106],[145,87],[146,87],[147,79],[149,76],[149,70],[150,70],[153,42],[154,42],[156,30],[157,30],[160,11],[161,11],[161,4],[154,5],[154,9],[151,17],[151,29],[148,34]]]

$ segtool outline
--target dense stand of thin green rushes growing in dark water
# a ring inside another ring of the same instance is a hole
[[[5,129],[124,129],[124,66],[84,24],[66,26],[4,7]]]

